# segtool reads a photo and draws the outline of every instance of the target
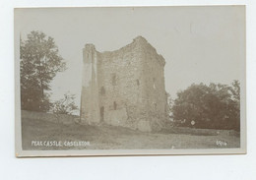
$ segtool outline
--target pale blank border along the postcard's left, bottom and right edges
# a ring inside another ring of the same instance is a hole
[[[147,8],[146,6],[144,6]],[[158,8],[157,6],[155,6]],[[195,6],[193,6],[195,7]],[[112,7],[109,7],[112,8]],[[118,8],[118,7],[115,7]],[[244,7],[245,8],[245,7]],[[66,8],[66,11],[69,9]],[[246,13],[246,9],[245,9]],[[15,15],[16,16],[16,15]],[[96,155],[171,155],[171,154],[228,154],[246,153],[246,95],[245,95],[245,61],[241,66],[241,101],[240,101],[240,148],[239,149],[183,149],[183,150],[22,150],[21,101],[20,101],[20,32],[14,27],[15,37],[15,85],[16,85],[16,156],[96,156]],[[246,35],[244,34],[246,39]],[[245,47],[244,47],[244,52]],[[244,60],[246,58],[244,57]],[[165,77],[168,78],[168,77]]]

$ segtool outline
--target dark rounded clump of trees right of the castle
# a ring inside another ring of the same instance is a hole
[[[185,121],[184,126],[238,130],[239,90],[238,81],[234,81],[232,86],[192,84],[177,93],[171,108],[173,118]]]

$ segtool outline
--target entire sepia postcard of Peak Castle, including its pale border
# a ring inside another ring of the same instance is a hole
[[[16,156],[246,153],[245,6],[16,8]]]

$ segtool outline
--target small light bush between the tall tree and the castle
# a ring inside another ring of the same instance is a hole
[[[65,93],[64,98],[52,103],[52,111],[55,114],[72,114],[75,110],[78,110],[78,106],[75,104],[75,95]]]

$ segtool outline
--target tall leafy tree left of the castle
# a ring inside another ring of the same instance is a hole
[[[20,59],[22,109],[49,110],[50,82],[66,68],[54,39],[32,31],[26,40],[21,39]]]

